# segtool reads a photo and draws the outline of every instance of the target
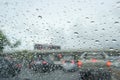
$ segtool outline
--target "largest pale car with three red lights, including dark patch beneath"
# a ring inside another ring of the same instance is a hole
[[[82,80],[111,80],[111,62],[104,52],[84,52],[77,62]],[[100,75],[100,76],[99,76]],[[101,77],[104,75],[104,77]],[[97,77],[95,77],[97,76]],[[91,78],[90,78],[91,77]]]

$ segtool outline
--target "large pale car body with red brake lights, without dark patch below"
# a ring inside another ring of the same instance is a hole
[[[84,52],[79,61],[81,61],[81,68],[103,68],[107,66],[108,57],[104,52]],[[80,66],[79,61],[78,66]]]

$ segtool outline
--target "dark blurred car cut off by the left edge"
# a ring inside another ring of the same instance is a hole
[[[0,77],[14,77],[19,71],[19,67],[13,61],[0,57]]]

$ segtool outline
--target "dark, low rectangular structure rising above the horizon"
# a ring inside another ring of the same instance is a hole
[[[49,45],[49,44],[35,44],[35,50],[58,50],[61,49],[60,46],[57,45]]]

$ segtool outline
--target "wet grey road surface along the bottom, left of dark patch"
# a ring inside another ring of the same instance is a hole
[[[79,80],[78,73],[79,72],[63,72],[62,70],[56,70],[50,73],[39,73],[24,68],[18,76],[9,79],[0,78],[0,80]],[[113,77],[112,80],[117,79]]]

